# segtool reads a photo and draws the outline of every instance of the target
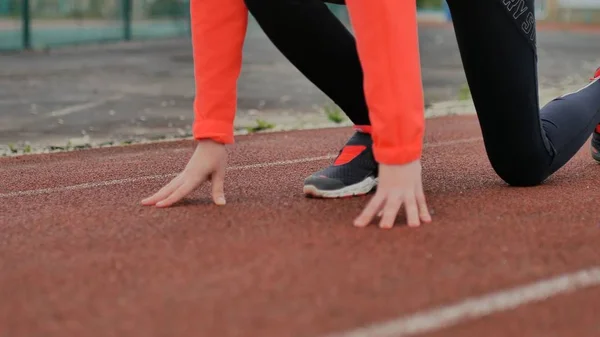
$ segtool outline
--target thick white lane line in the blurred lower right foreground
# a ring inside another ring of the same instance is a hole
[[[537,281],[327,337],[405,337],[441,330],[552,296],[600,285],[600,266]]]

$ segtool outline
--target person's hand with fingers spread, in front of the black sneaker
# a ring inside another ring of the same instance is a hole
[[[421,221],[431,222],[423,193],[420,160],[406,165],[380,164],[377,192],[356,218],[354,225],[365,227],[379,214],[379,227],[392,228],[402,205],[409,226],[417,227]]]

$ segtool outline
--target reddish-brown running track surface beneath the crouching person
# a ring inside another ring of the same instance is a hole
[[[210,186],[140,206],[191,141],[0,159],[0,336],[600,334],[600,167],[587,145],[544,185],[512,188],[475,117],[428,120],[433,223],[358,229],[370,197],[301,194],[351,133],[239,137],[224,207]]]

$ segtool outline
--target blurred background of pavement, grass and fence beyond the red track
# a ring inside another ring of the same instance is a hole
[[[189,136],[188,1],[0,0],[0,153]],[[445,2],[417,3],[428,116],[473,113]],[[548,101],[600,65],[600,0],[535,4]],[[252,19],[238,104],[238,133],[348,125]]]

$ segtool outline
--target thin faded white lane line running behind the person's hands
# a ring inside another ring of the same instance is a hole
[[[451,141],[446,141],[446,142],[425,144],[424,147],[430,148],[430,147],[440,147],[440,146],[455,145],[455,144],[462,144],[462,143],[472,143],[472,142],[476,142],[479,140],[481,140],[480,137],[458,139],[458,140],[451,140]],[[314,161],[333,159],[336,156],[337,156],[337,154],[329,154],[329,155],[320,156],[320,157],[283,160],[283,161],[241,165],[241,166],[231,166],[231,167],[228,167],[227,169],[228,170],[245,170],[245,169],[263,168],[263,167],[271,167],[271,166],[293,165],[293,164],[309,163],[309,162],[314,162]],[[179,173],[159,174],[159,175],[151,175],[151,176],[143,176],[143,177],[135,177],[135,178],[124,178],[124,179],[116,179],[116,180],[108,180],[108,181],[98,181],[98,182],[83,183],[83,184],[78,184],[78,185],[61,186],[61,187],[54,187],[54,188],[41,188],[41,189],[35,189],[35,190],[14,191],[14,192],[8,192],[8,193],[0,193],[0,199],[12,198],[12,197],[22,197],[22,196],[29,196],[29,195],[39,195],[39,194],[51,194],[51,193],[58,193],[58,192],[65,192],[65,191],[72,191],[72,190],[82,190],[82,189],[88,189],[88,188],[111,186],[111,185],[121,185],[121,184],[135,183],[138,181],[170,178],[170,177],[177,176],[177,174],[179,174]]]

